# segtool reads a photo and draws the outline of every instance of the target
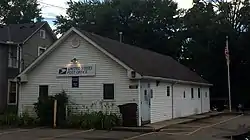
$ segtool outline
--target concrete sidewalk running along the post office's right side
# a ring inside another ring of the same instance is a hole
[[[134,131],[134,132],[154,132],[154,131],[159,131],[160,129],[162,129],[164,127],[168,127],[170,125],[189,123],[192,121],[206,119],[206,118],[218,116],[221,114],[228,114],[228,112],[208,112],[208,113],[204,113],[204,114],[191,115],[191,116],[187,116],[187,117],[176,118],[176,119],[161,121],[161,122],[157,122],[157,123],[147,124],[147,125],[144,125],[141,127],[114,127],[113,130]]]

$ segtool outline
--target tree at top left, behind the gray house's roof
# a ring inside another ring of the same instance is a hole
[[[41,9],[37,0],[1,0],[0,23],[19,24],[41,21]]]

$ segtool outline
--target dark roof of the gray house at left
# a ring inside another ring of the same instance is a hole
[[[8,26],[0,25],[0,42],[6,43],[7,41],[10,41],[14,44],[24,43],[43,26],[46,26],[47,29],[49,28],[46,21],[37,23],[10,24]],[[52,34],[54,39],[56,39],[53,32]]]

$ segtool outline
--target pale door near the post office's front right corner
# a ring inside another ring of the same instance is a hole
[[[142,84],[141,85],[142,124],[150,122],[150,104],[151,104],[150,85]]]

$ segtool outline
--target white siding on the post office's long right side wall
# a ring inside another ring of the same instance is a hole
[[[154,90],[154,97],[151,100],[151,123],[172,119],[172,97],[166,94],[167,86],[170,86],[170,95],[173,90],[174,118],[205,113],[210,110],[209,95],[205,97],[205,91],[209,94],[209,87],[200,87],[201,98],[198,98],[199,86],[174,84],[172,89],[170,83],[160,82],[159,86],[156,86],[152,82],[151,85]],[[193,88],[194,98],[191,98],[191,88]]]

